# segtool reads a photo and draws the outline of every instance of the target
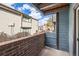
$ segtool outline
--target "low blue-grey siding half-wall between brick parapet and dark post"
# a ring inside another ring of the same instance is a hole
[[[56,48],[56,32],[47,32],[45,38],[46,46]]]

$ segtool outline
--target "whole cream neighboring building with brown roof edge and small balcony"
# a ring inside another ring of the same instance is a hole
[[[37,23],[36,19],[0,4],[0,32],[14,35],[26,31],[33,34],[38,30]]]

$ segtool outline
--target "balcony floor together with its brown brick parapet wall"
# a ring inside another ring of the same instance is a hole
[[[45,46],[45,33],[0,43],[1,56],[56,56],[67,52]]]

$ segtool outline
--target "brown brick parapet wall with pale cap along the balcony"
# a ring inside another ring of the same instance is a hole
[[[44,33],[0,43],[1,56],[37,56],[44,47]]]

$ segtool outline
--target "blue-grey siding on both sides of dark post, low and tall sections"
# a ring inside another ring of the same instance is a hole
[[[46,33],[46,45],[56,48],[56,33]],[[59,11],[59,49],[69,51],[69,8]]]

